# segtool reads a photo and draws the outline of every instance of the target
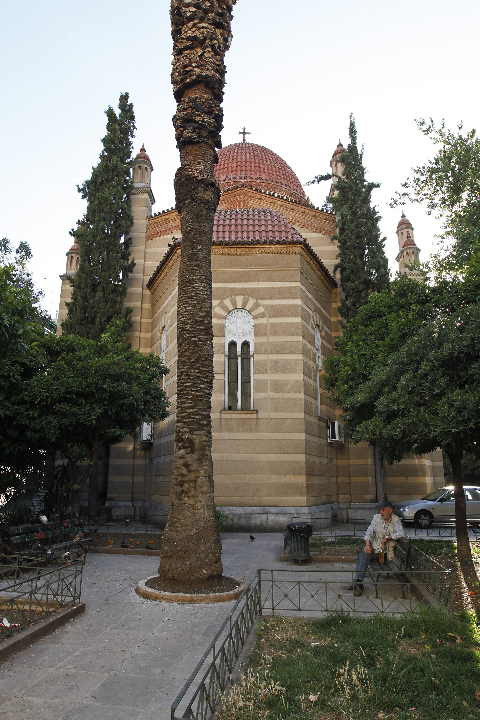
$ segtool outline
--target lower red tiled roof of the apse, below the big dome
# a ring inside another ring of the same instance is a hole
[[[173,243],[168,243],[168,251],[155,268],[153,275],[147,282],[147,287],[150,287],[166,261],[168,261],[168,258],[179,245],[181,245],[181,238],[173,238]],[[295,230],[293,225],[278,210],[271,210],[270,208],[217,210],[214,218],[212,245],[302,245],[330,279],[332,285],[338,287],[332,274],[327,270],[314,249],[309,246],[307,240],[302,238],[302,235]]]

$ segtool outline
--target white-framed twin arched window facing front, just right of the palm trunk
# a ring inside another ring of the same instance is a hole
[[[225,318],[225,410],[253,410],[253,317],[241,307]]]

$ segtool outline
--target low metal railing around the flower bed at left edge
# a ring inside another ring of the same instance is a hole
[[[8,567],[15,572],[13,580],[0,582],[0,638],[10,637],[59,608],[80,602],[82,560],[52,567]]]

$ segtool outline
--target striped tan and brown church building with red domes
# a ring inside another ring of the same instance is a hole
[[[341,174],[345,152],[339,142],[332,174]],[[376,503],[373,449],[343,442],[340,408],[327,399],[322,382],[325,358],[341,331],[341,288],[332,276],[335,215],[314,207],[292,168],[272,150],[245,142],[245,135],[218,150],[218,157],[222,196],[212,238],[215,502],[231,518],[231,529],[278,530],[292,516],[314,513],[369,518]],[[161,355],[170,369],[163,382],[172,405],[166,420],[143,425],[137,437],[110,449],[99,501],[115,514],[168,512],[171,487],[181,226],[173,207],[152,213],[152,175],[142,145],[132,161],[135,268],[125,305],[133,308],[132,347]],[[333,176],[330,194],[336,181]],[[401,271],[410,272],[407,263],[418,261],[413,230],[402,214]],[[78,251],[75,243],[60,276],[59,332]],[[389,500],[422,497],[445,482],[442,453],[384,465],[384,477]]]

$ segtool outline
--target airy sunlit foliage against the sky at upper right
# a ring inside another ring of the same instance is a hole
[[[472,128],[463,135],[445,130],[430,118],[416,120],[417,127],[437,148],[433,160],[412,168],[414,176],[402,183],[402,191],[391,199],[390,207],[407,202],[426,203],[427,215],[443,220],[438,252],[431,269],[437,278],[453,278],[468,273],[479,277],[480,228],[480,139]],[[474,248],[477,248],[474,251]],[[472,256],[474,258],[472,259]]]

